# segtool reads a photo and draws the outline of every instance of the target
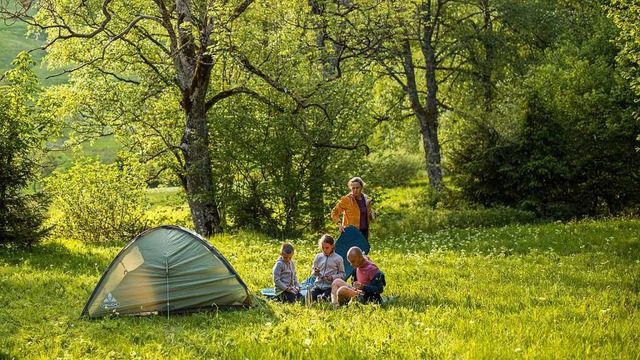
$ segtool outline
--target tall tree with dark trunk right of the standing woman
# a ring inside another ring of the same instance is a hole
[[[473,54],[462,46],[460,27],[491,26],[488,1],[336,1],[330,39],[343,53],[366,59],[369,69],[391,79],[402,90],[407,112],[422,134],[430,185],[444,188],[440,117],[448,109],[441,91],[456,84]],[[482,23],[484,21],[484,23]],[[494,45],[485,43],[488,57]],[[345,55],[343,55],[345,56]],[[485,65],[484,63],[483,65]],[[479,70],[486,96],[492,96],[491,69]],[[446,94],[446,93],[445,93]]]

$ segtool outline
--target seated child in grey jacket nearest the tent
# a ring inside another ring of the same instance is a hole
[[[293,253],[293,245],[282,244],[280,257],[273,266],[273,285],[277,298],[282,302],[292,303],[302,298]]]

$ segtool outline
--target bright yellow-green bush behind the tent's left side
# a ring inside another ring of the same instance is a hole
[[[76,162],[46,179],[58,236],[86,242],[129,240],[145,226],[143,169],[133,162]]]

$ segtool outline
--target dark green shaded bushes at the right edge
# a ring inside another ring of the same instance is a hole
[[[455,183],[464,197],[551,219],[616,214],[637,206],[634,131],[626,127],[570,131],[540,108],[541,103],[532,101],[516,139],[493,131],[470,133],[475,135],[467,138],[465,152],[452,157]]]

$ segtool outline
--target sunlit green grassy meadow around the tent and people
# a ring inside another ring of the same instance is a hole
[[[280,241],[211,242],[251,290]],[[316,239],[294,240],[299,272]],[[640,221],[517,225],[372,237],[384,306],[263,303],[248,311],[80,319],[121,245],[56,240],[0,250],[0,358],[380,359],[640,357]],[[301,274],[302,275],[302,274]]]

